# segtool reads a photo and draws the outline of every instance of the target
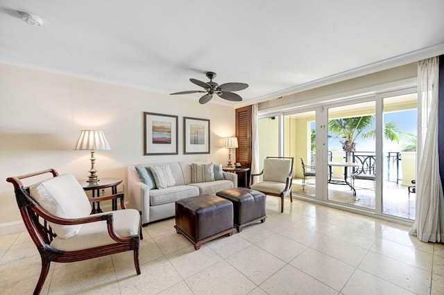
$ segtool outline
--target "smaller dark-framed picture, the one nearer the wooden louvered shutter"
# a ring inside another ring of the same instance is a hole
[[[210,120],[183,117],[184,154],[210,154]]]

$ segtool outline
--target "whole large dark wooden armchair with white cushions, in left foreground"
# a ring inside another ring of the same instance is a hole
[[[22,184],[21,179],[42,179],[46,173],[53,177],[32,186]],[[14,185],[24,225],[42,259],[34,294],[40,294],[52,261],[75,262],[134,251],[136,272],[140,274],[140,214],[125,208],[123,194],[89,198],[73,175],[59,176],[53,169],[9,177],[6,181]],[[89,202],[110,199],[120,199],[123,210],[89,215]]]

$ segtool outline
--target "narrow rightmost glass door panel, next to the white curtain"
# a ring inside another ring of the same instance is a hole
[[[415,220],[417,93],[387,93],[382,107],[382,213]]]

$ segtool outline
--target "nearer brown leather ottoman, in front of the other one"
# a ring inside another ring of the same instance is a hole
[[[219,238],[232,235],[233,205],[232,202],[216,195],[200,195],[176,201],[177,233],[182,233],[194,244],[200,245]]]

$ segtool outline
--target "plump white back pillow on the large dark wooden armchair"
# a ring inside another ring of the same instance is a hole
[[[87,217],[91,213],[91,205],[82,186],[70,174],[53,177],[30,186],[29,192],[33,199],[49,213],[61,218]],[[59,238],[67,239],[76,235],[82,224],[60,225],[49,222]]]

